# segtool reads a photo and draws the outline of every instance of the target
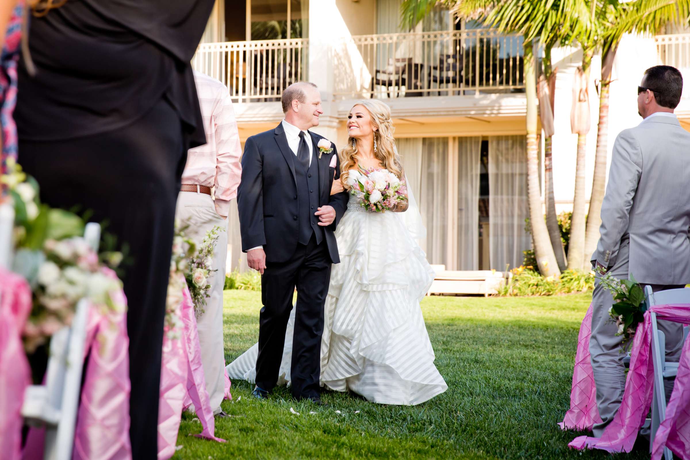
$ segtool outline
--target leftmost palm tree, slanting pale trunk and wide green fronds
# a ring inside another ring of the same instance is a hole
[[[544,222],[540,196],[534,46],[535,43],[556,43],[566,39],[566,34],[570,34],[573,27],[578,27],[579,23],[575,18],[583,13],[583,3],[578,0],[405,0],[401,7],[402,22],[406,26],[413,26],[436,5],[450,8],[457,17],[479,19],[501,32],[522,34],[527,99],[527,193],[534,252],[539,270],[544,276],[559,276],[560,270],[551,245],[549,230]]]

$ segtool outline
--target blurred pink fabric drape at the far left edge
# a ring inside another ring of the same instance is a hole
[[[0,268],[0,446],[7,460],[21,458],[21,406],[31,383],[21,332],[31,307],[26,280]]]

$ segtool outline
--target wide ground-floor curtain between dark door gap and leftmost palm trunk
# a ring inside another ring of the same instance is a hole
[[[489,137],[489,254],[491,268],[522,265],[531,248],[525,219],[527,158],[524,136]]]

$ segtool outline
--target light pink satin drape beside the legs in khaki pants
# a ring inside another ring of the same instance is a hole
[[[167,460],[175,454],[177,432],[186,399],[195,406],[203,430],[195,436],[225,442],[215,437],[215,419],[210,407],[204,368],[201,365],[201,346],[197,332],[197,318],[189,289],[184,286],[182,303],[177,314],[184,327],[182,337],[163,339],[161,363],[161,399],[158,412],[158,459]]]

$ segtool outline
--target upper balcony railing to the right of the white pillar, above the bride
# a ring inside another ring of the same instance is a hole
[[[524,91],[522,37],[496,30],[361,35],[333,51],[337,99]]]

